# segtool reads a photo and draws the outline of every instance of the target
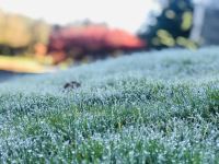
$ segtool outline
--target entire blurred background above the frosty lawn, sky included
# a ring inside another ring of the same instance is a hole
[[[219,44],[217,0],[1,0],[0,82],[95,60]]]

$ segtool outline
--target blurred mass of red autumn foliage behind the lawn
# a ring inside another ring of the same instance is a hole
[[[80,60],[88,55],[103,57],[117,50],[138,50],[145,46],[145,42],[122,30],[111,30],[104,25],[71,26],[51,32],[48,52],[56,56],[61,54],[58,60],[67,56]]]

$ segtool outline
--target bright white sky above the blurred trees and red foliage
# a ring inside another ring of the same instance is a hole
[[[155,0],[0,0],[0,9],[22,13],[49,23],[66,24],[90,19],[106,22],[135,33],[151,10],[158,10]]]

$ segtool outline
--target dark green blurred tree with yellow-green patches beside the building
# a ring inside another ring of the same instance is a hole
[[[155,19],[154,25],[149,25],[139,37],[146,39],[149,48],[166,47],[193,48],[189,40],[193,27],[193,2],[191,0],[168,0],[168,5]],[[146,27],[145,27],[146,28]]]

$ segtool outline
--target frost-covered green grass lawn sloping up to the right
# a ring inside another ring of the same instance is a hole
[[[64,91],[66,82],[81,86]],[[0,84],[0,163],[218,163],[219,48]]]

